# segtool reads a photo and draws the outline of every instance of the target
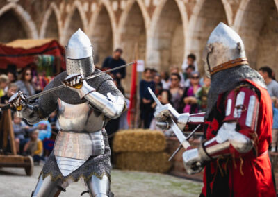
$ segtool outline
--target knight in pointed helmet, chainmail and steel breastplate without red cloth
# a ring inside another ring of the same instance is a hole
[[[33,104],[21,92],[10,104],[17,115],[36,123],[57,110],[60,131],[54,151],[44,164],[32,196],[58,196],[71,182],[83,178],[90,196],[113,196],[110,191],[111,151],[104,126],[120,117],[125,101],[108,74],[99,74],[92,58],[92,44],[83,31],[76,31],[66,46],[66,68],[44,90],[66,85],[44,94]]]

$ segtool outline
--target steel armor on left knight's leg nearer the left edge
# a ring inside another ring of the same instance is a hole
[[[60,191],[62,190],[65,191],[65,189],[63,189],[61,185],[62,185],[61,180],[52,181],[50,176],[47,176],[47,178],[44,178],[44,180],[42,180],[42,175],[40,175],[38,183],[35,186],[35,190],[33,191],[31,197],[59,196]]]

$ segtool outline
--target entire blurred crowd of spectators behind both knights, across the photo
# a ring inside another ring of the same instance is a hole
[[[124,65],[126,62],[121,58],[122,53],[122,49],[116,49],[111,56],[104,60],[102,69],[113,69]],[[272,152],[276,152],[278,143],[278,83],[270,67],[261,67],[259,73],[263,76],[272,98],[274,121],[270,148]],[[124,94],[121,80],[126,76],[126,68],[111,72],[111,76],[115,85]],[[0,75],[1,106],[6,105],[10,96],[19,90],[24,92],[26,96],[42,92],[51,78],[53,76],[45,76],[43,72],[38,73],[37,69],[32,67],[32,65],[24,69],[17,69],[15,65],[9,65],[8,69]],[[156,69],[145,68],[139,85],[139,127],[152,130],[158,129],[154,119],[156,103],[149,94],[148,87],[152,89],[163,105],[170,103],[179,113],[188,112],[193,114],[206,112],[206,100],[210,85],[211,79],[199,74],[194,54],[189,54],[181,66],[172,66],[169,71],[158,72]],[[127,98],[126,108],[129,108],[129,99]],[[45,160],[53,149],[59,130],[56,112],[53,112],[47,120],[35,123],[33,126],[17,117],[16,112],[13,110],[12,117],[17,153],[33,156],[36,163]],[[112,145],[113,135],[117,130],[127,128],[129,128],[127,111],[118,119],[109,121],[106,125],[106,130],[110,144]]]

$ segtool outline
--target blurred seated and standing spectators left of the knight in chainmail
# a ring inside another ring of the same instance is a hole
[[[53,76],[46,76],[43,72],[38,73],[35,65],[27,65],[24,69],[8,65],[8,69],[0,75],[0,105],[6,105],[10,97],[18,91],[24,92],[26,96],[42,92],[52,78]],[[2,116],[3,112],[0,113],[0,117]],[[56,112],[53,112],[48,120],[33,126],[17,117],[15,110],[12,110],[12,119],[17,154],[31,155],[35,164],[45,160],[53,149],[59,130]],[[0,135],[0,139],[2,137],[3,135]]]

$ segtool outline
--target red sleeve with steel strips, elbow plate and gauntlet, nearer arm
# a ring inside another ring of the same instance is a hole
[[[183,153],[183,164],[188,173],[202,170],[205,162],[220,156],[244,155],[254,147],[252,134],[256,132],[259,99],[249,87],[240,87],[227,96],[226,117],[218,134],[199,148]],[[196,167],[199,166],[199,167]]]

